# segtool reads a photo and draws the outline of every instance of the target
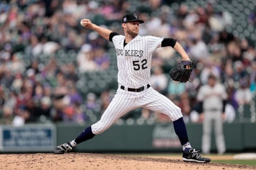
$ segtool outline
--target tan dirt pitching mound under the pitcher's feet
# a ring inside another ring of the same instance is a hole
[[[0,169],[255,169],[255,166],[219,163],[185,163],[181,159],[121,156],[109,154],[70,153],[54,154],[1,154]]]

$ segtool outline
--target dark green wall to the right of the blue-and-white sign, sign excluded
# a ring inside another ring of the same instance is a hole
[[[57,143],[74,139],[86,127],[79,125],[57,125]],[[224,124],[228,152],[256,150],[256,123]],[[190,143],[201,149],[202,124],[187,124]],[[81,152],[142,152],[180,151],[180,142],[173,124],[113,125],[106,132],[83,142],[76,148]],[[212,134],[212,151],[216,151]]]

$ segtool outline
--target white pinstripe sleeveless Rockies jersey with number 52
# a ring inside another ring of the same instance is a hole
[[[150,83],[151,58],[154,50],[161,47],[163,38],[136,36],[124,47],[125,36],[116,35],[112,41],[116,48],[118,84],[139,88]]]

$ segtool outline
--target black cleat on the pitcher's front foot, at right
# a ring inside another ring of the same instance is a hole
[[[193,148],[189,149],[188,153],[185,153],[183,151],[182,159],[185,162],[195,162],[195,163],[209,163],[211,159],[209,158],[204,158],[201,155],[198,154],[199,150],[195,150]]]

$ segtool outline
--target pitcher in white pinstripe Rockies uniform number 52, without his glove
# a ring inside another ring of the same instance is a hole
[[[188,162],[210,162],[190,146],[181,109],[171,100],[150,87],[151,57],[158,47],[173,47],[182,57],[190,61],[189,56],[177,40],[154,36],[141,37],[140,20],[135,13],[127,13],[122,18],[124,36],[93,24],[89,19],[81,20],[83,27],[92,29],[103,38],[112,41],[116,48],[118,66],[118,89],[100,120],[87,127],[78,137],[70,142],[57,146],[54,153],[64,154],[71,151],[78,143],[89,140],[96,134],[106,131],[119,117],[127,112],[143,107],[168,115],[173,121],[175,133],[183,148],[182,159]]]

